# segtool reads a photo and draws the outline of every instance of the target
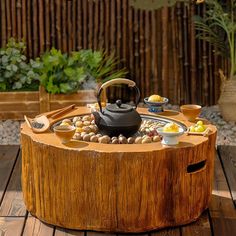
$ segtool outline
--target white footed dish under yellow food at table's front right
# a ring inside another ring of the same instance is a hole
[[[173,146],[179,143],[178,137],[184,133],[183,128],[179,127],[179,132],[164,132],[163,127],[158,128],[157,132],[163,137],[163,145]]]

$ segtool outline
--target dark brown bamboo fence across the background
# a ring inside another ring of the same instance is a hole
[[[212,105],[219,98],[218,70],[227,71],[227,62],[196,40],[192,17],[204,11],[192,1],[146,11],[129,0],[1,0],[0,46],[10,37],[24,39],[32,58],[52,46],[115,51],[142,97],[158,93],[172,104]],[[125,95],[109,93],[111,99]]]

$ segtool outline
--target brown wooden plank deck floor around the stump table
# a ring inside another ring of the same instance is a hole
[[[0,146],[0,235],[1,236],[101,236],[91,231],[53,227],[31,216],[21,192],[19,146]],[[115,234],[114,234],[115,235]],[[234,236],[236,235],[236,146],[220,146],[216,152],[215,179],[210,207],[195,223],[165,229],[145,236]]]

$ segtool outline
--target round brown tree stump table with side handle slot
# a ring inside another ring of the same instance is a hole
[[[150,114],[138,109],[140,114]],[[84,115],[79,107],[65,117]],[[191,125],[182,113],[165,117]],[[49,224],[80,230],[144,232],[195,221],[211,198],[216,128],[182,135],[174,147],[60,143],[21,127],[22,189],[28,211]]]

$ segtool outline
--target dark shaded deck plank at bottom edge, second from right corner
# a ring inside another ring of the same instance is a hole
[[[201,217],[194,223],[188,224],[181,228],[181,236],[201,235],[210,236],[211,226],[208,212],[204,211]]]

